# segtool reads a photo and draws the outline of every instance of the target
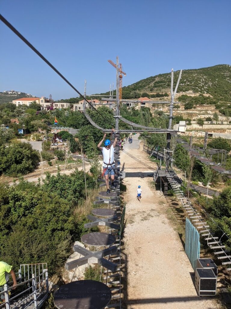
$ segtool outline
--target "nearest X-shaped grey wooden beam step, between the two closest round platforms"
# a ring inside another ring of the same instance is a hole
[[[115,263],[104,259],[104,256],[115,254],[117,252],[117,247],[115,246],[100,251],[89,251],[79,245],[74,245],[73,250],[83,255],[83,257],[71,262],[67,262],[65,264],[65,268],[67,270],[71,270],[87,263],[98,263],[99,265],[110,269],[112,272],[115,272],[117,268]]]

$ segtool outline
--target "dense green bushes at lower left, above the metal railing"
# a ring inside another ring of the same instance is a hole
[[[88,189],[95,181],[87,174]],[[77,211],[85,198],[82,171],[70,176],[47,175],[43,186],[22,180],[0,184],[1,258],[14,265],[47,262],[57,272],[71,253],[73,241],[87,232],[84,213]]]

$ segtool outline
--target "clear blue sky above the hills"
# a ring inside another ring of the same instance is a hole
[[[230,0],[1,0],[0,13],[82,94],[160,73],[231,64]],[[0,91],[77,96],[0,22]],[[115,88],[115,86],[114,86]]]

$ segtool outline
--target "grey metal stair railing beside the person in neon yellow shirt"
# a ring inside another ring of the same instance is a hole
[[[39,309],[49,293],[48,271],[44,268],[45,265],[47,263],[20,265],[20,270],[16,273],[20,282],[16,286],[9,286],[13,281],[4,285],[0,297],[4,294],[5,301],[0,308],[16,309],[20,305],[25,309],[34,304],[34,308]]]

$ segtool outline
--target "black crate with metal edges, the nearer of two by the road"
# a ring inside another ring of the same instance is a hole
[[[213,269],[197,268],[195,271],[195,286],[198,295],[216,295],[217,276]]]

